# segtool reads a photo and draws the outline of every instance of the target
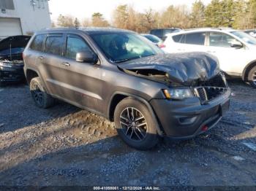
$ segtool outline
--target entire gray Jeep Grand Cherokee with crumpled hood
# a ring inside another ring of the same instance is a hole
[[[165,54],[132,31],[39,31],[23,58],[37,106],[48,108],[58,98],[100,114],[137,149],[154,147],[161,136],[197,136],[229,108],[230,88],[216,58]]]

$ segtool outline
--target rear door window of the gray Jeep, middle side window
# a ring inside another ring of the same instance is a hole
[[[62,55],[63,43],[62,36],[48,36],[45,41],[45,52],[53,55]]]

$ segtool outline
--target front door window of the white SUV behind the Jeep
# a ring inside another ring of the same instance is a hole
[[[232,36],[227,34],[218,33],[218,32],[211,32],[209,36],[211,47],[231,47],[233,42],[238,42]]]

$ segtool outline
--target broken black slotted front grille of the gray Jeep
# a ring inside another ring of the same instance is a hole
[[[214,98],[217,98],[219,95],[222,95],[227,91],[227,87],[195,87],[195,95],[200,98],[200,101],[206,102],[211,101]]]

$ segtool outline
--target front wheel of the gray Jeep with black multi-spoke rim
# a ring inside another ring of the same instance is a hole
[[[140,150],[151,149],[159,141],[152,118],[148,108],[134,98],[119,102],[114,113],[118,135],[130,147]]]

